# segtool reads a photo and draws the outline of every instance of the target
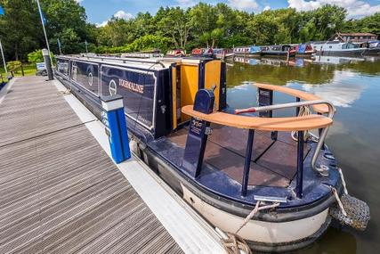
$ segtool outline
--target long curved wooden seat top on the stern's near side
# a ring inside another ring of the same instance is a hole
[[[182,108],[182,113],[196,119],[206,120],[208,122],[223,126],[263,131],[310,130],[327,127],[333,123],[333,119],[316,114],[294,118],[258,118],[233,115],[220,111],[215,111],[211,114],[204,114],[194,111],[193,105],[184,106]]]

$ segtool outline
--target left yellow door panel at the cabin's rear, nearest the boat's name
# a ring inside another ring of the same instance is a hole
[[[198,92],[198,65],[181,65],[181,107],[194,104],[195,94]],[[181,120],[190,119],[189,116],[181,116]]]

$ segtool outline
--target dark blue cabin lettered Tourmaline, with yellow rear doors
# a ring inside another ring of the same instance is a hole
[[[58,56],[56,72],[98,107],[101,96],[122,95],[129,128],[143,140],[182,127],[190,118],[181,109],[194,104],[199,89],[215,86],[215,110],[226,107],[225,63],[219,60]]]

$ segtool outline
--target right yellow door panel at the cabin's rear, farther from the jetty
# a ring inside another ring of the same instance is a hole
[[[208,61],[205,64],[205,88],[211,89],[216,86],[215,95],[215,110],[219,110],[219,93],[221,90],[221,70],[222,62],[219,60]]]

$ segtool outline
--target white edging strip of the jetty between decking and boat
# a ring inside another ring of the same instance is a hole
[[[58,90],[66,91],[58,80],[55,80],[54,85]],[[73,94],[64,98],[83,122],[86,122],[85,119],[96,119]],[[109,139],[101,121],[87,122],[85,127],[111,158]],[[226,253],[214,228],[134,154],[130,160],[117,164],[117,168],[185,253]]]

